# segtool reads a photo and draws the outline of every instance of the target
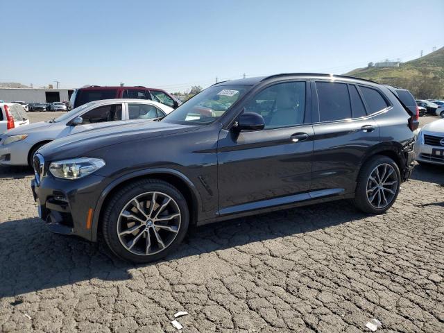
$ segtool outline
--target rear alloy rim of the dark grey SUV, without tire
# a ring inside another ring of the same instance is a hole
[[[370,205],[382,209],[390,205],[398,191],[398,176],[391,164],[379,164],[367,180],[367,199]]]

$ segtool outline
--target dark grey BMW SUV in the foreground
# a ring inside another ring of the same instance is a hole
[[[343,198],[385,212],[413,169],[412,117],[387,87],[358,78],[227,81],[160,121],[46,144],[33,194],[53,232],[101,234],[119,257],[150,262],[189,225]]]

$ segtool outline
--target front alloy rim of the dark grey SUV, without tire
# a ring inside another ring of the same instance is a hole
[[[123,207],[117,221],[117,235],[130,253],[154,255],[176,239],[181,217],[171,196],[159,191],[146,192]]]

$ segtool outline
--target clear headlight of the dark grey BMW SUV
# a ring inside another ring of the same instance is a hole
[[[57,178],[78,179],[104,166],[105,161],[100,158],[79,157],[71,160],[52,162],[49,164],[49,171]]]

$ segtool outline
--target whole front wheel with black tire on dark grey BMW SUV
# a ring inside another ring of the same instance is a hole
[[[163,180],[145,179],[114,194],[101,223],[103,238],[114,255],[143,264],[176,250],[187,234],[189,211],[176,187]]]

